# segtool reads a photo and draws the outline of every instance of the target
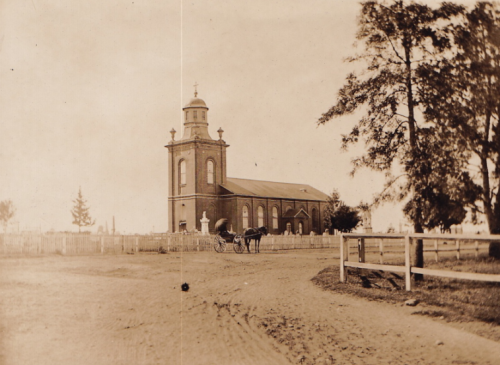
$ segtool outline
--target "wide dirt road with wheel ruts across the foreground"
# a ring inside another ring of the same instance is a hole
[[[498,342],[315,287],[333,263],[327,250],[0,258],[0,364],[498,364]]]

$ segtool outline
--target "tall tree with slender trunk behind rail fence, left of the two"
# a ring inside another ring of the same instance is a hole
[[[418,200],[422,166],[421,151],[429,148],[424,121],[417,123],[421,105],[418,69],[446,50],[448,21],[463,8],[444,3],[438,9],[426,5],[393,1],[390,5],[367,1],[361,4],[357,38],[364,52],[351,61],[367,63],[363,73],[350,74],[339,90],[338,99],[318,123],[353,113],[362,108],[364,116],[351,133],[343,136],[343,147],[364,139],[366,153],[353,160],[354,171],[368,167],[390,172],[395,162],[401,174],[390,176],[379,200],[408,199],[417,233],[424,229],[424,206]],[[446,156],[443,156],[446,158]],[[417,197],[417,199],[415,199]],[[416,245],[415,265],[423,266],[422,242]]]

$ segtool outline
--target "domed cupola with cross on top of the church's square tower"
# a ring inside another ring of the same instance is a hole
[[[202,99],[198,98],[198,84],[194,84],[194,98],[186,104],[184,111],[184,134],[182,140],[208,139],[208,107]]]

